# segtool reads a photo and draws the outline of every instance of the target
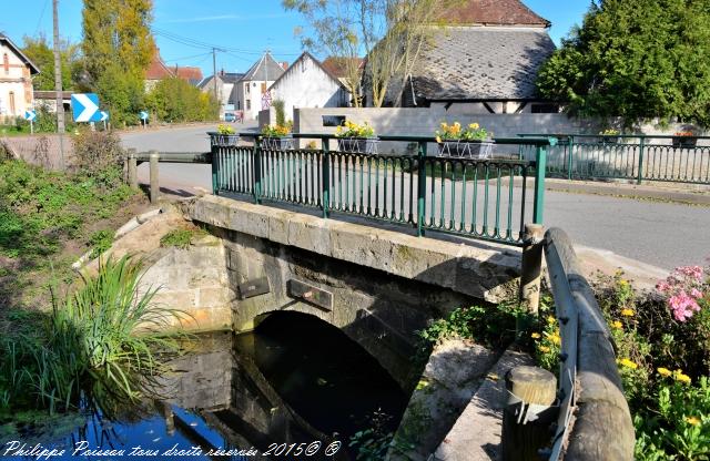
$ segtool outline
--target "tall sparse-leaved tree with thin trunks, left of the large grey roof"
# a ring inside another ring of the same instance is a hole
[[[382,106],[393,81],[417,65],[439,13],[463,0],[282,0],[311,25],[304,48],[325,51],[345,64],[346,81],[359,106],[363,72],[372,103]],[[358,57],[366,57],[361,65]],[[396,98],[398,101],[400,94]]]

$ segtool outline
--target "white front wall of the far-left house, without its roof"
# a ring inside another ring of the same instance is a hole
[[[8,68],[4,55],[8,55]],[[14,104],[11,104],[10,93]],[[30,69],[8,47],[0,45],[0,117],[16,117],[33,104],[32,79]],[[14,105],[14,107],[12,107]],[[14,109],[14,110],[12,110]]]

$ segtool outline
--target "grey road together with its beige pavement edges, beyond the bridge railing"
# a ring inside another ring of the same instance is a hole
[[[125,147],[139,151],[206,152],[206,131],[187,126],[164,131],[123,133]],[[236,131],[254,130],[255,122],[236,124]],[[139,178],[148,182],[148,165]],[[161,189],[178,195],[211,189],[210,165],[160,165]],[[710,256],[710,192],[628,185],[621,183],[547,182],[545,225],[564,228],[578,252],[594,254],[599,266],[629,267],[651,279],[681,265],[704,265]],[[608,262],[601,264],[601,262]]]

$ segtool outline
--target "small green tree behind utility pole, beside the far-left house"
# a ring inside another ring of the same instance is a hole
[[[47,42],[44,34],[37,38],[24,37],[22,52],[40,69],[40,73],[32,79],[34,90],[54,90],[54,52]],[[62,82],[67,88],[73,88],[74,75],[81,68],[79,45],[69,41],[60,43],[62,61]]]

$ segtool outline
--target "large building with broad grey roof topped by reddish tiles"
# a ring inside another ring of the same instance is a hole
[[[436,28],[416,71],[399,85],[399,105],[467,113],[558,112],[535,86],[538,69],[555,51],[549,21],[519,0],[467,0],[440,20],[446,25]],[[390,94],[397,91],[395,86]]]

